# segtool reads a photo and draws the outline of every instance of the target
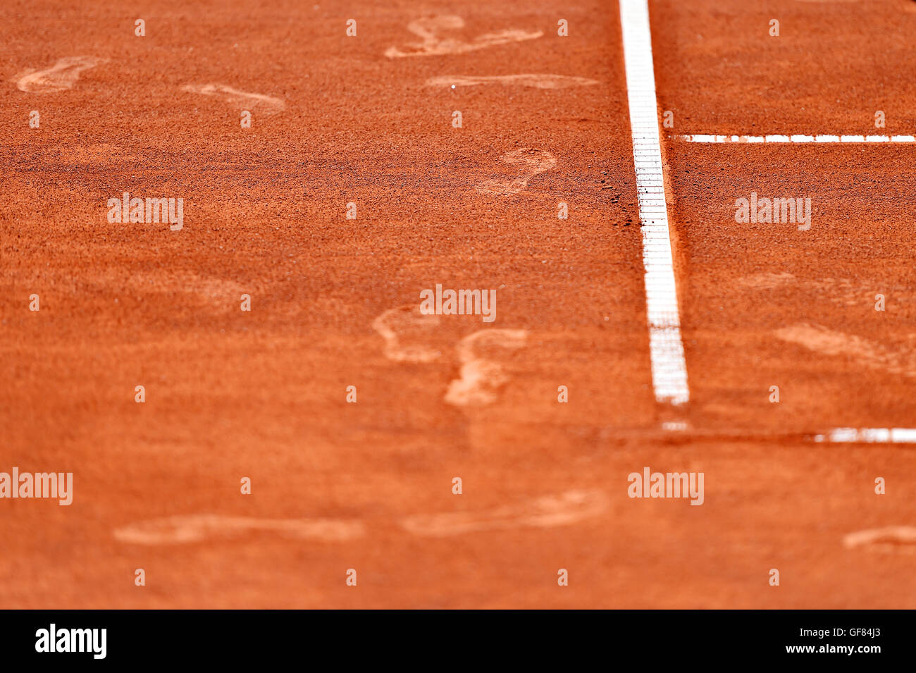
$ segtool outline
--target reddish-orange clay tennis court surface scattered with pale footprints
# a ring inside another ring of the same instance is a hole
[[[916,427],[916,145],[681,136],[913,134],[914,5],[649,1],[675,407],[616,2],[7,2],[0,471],[73,503],[0,501],[0,605],[912,607],[916,447],[813,438]]]

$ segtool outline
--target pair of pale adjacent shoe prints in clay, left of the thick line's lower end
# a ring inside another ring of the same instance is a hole
[[[385,356],[396,363],[431,363],[442,353],[428,346],[407,343],[423,331],[434,329],[439,316],[424,315],[420,307],[409,304],[388,309],[376,320],[372,328],[385,340]],[[418,334],[419,332],[419,334]],[[492,346],[507,349],[522,348],[528,339],[526,330],[480,330],[464,337],[456,347],[461,365],[460,377],[453,380],[445,392],[445,401],[456,407],[480,407],[496,400],[496,393],[508,381],[503,366],[479,354]]]

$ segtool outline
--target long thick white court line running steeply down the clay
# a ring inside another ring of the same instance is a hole
[[[620,0],[624,64],[627,69],[633,161],[642,223],[642,261],[646,266],[646,314],[652,386],[658,402],[690,400],[681,340],[681,317],[674,283],[668,206],[661,169],[659,112],[655,100],[648,0]]]

